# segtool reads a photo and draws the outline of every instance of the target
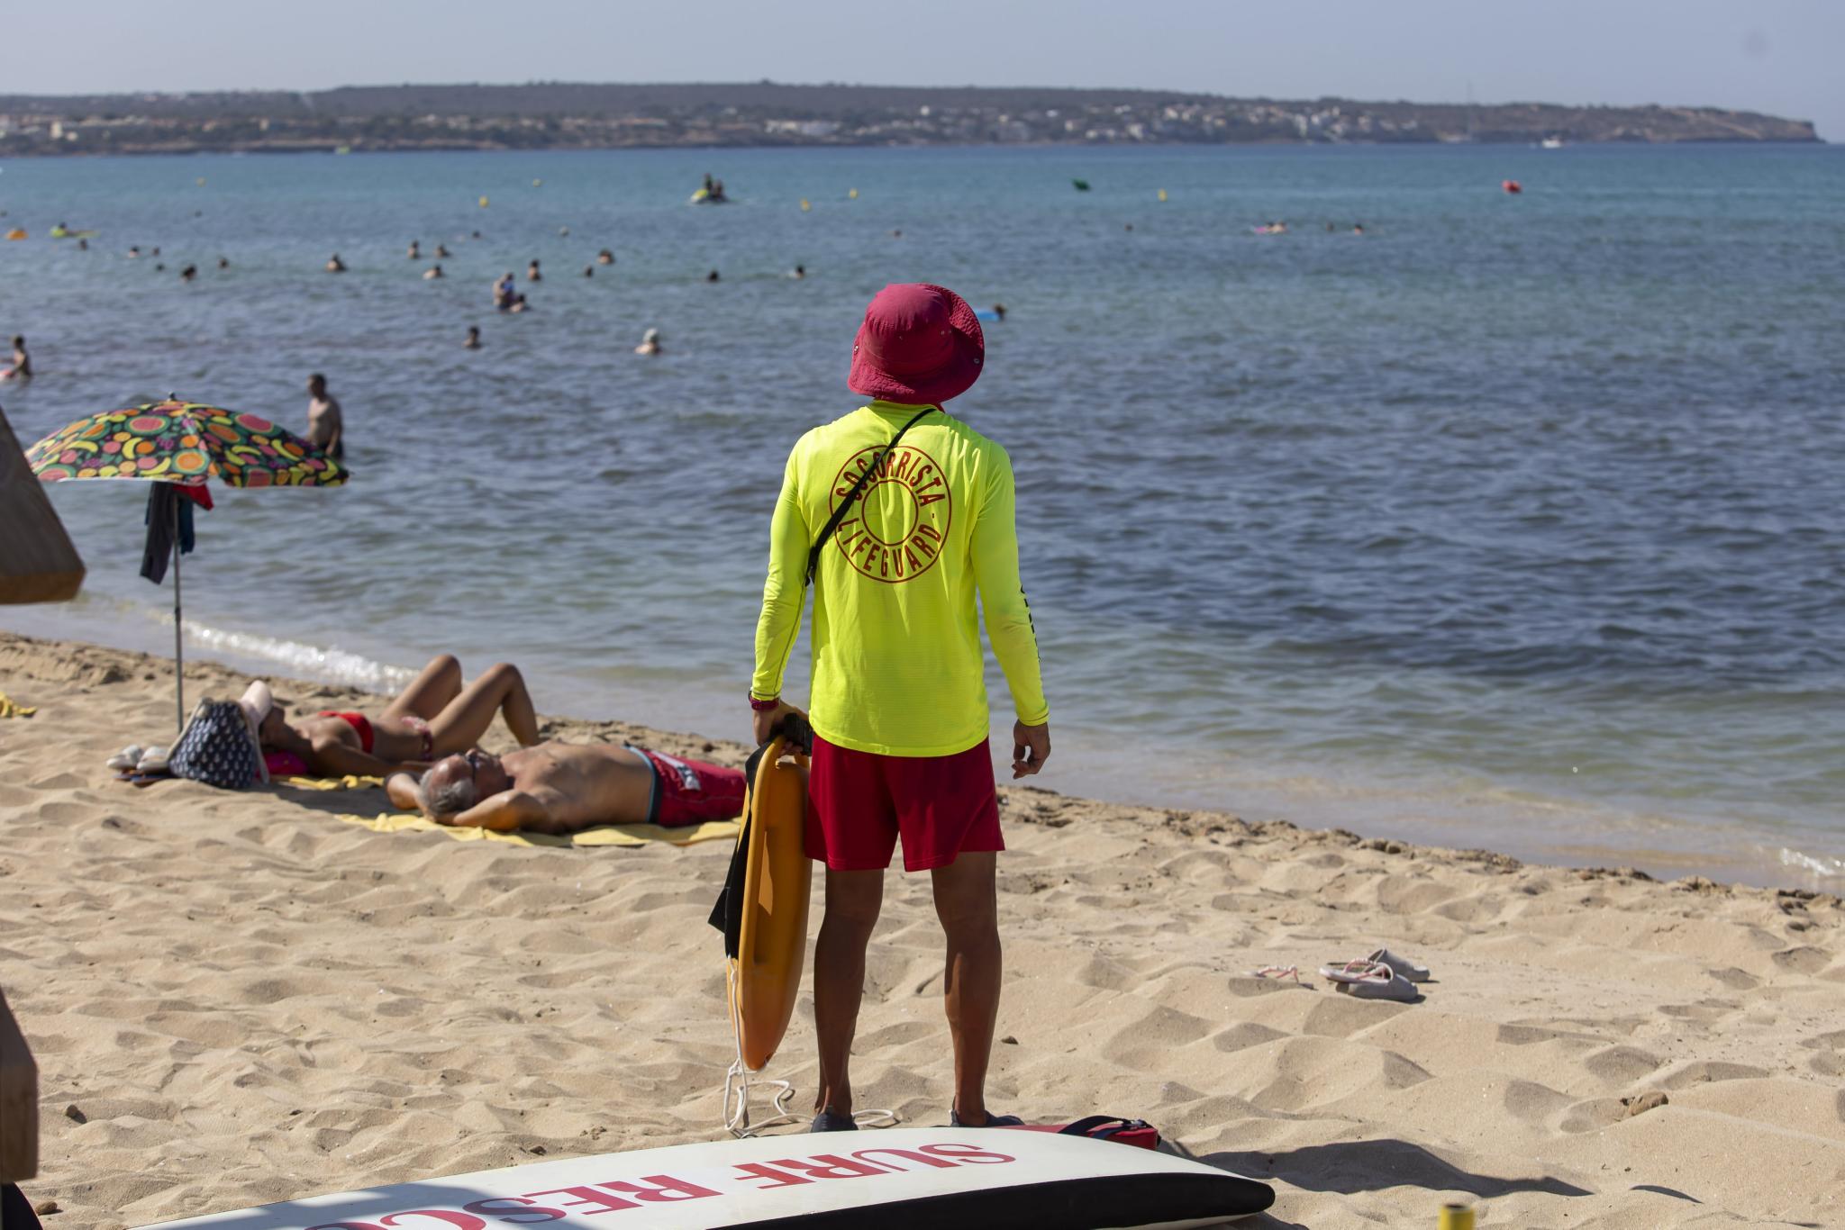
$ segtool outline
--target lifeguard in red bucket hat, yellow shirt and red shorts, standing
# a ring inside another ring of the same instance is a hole
[[[749,688],[756,743],[790,712],[788,655],[814,583],[814,802],[806,852],[827,863],[814,948],[819,1094],[814,1130],[851,1130],[849,1066],[865,946],[899,839],[904,870],[928,870],[946,933],[943,979],[963,1127],[987,1112],[1000,1003],[994,854],[998,795],[974,596],[1018,721],[1013,776],[1044,767],[1050,708],[1031,610],[1018,583],[1013,465],[943,402],[980,378],[972,308],[941,286],[886,286],[865,310],[849,385],[875,398],[814,428],[788,455],[769,527],[769,577]]]

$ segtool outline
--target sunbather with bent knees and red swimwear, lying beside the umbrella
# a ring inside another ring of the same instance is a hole
[[[423,773],[474,747],[494,714],[506,717],[520,747],[539,741],[539,719],[517,666],[500,662],[463,688],[461,664],[446,653],[376,719],[325,710],[290,725],[288,710],[262,680],[249,686],[242,704],[256,725],[269,773],[279,776]]]

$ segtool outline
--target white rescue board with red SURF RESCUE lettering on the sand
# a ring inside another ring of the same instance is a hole
[[[168,1221],[161,1230],[1101,1230],[1212,1226],[1273,1200],[1253,1178],[1109,1140],[900,1127],[535,1162]]]

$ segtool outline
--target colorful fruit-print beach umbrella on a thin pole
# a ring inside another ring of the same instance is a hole
[[[317,446],[268,419],[179,398],[77,419],[28,448],[26,461],[44,483],[138,478],[203,487],[216,478],[231,487],[338,487],[351,476]],[[179,725],[184,728],[177,502],[173,520],[173,675]]]

